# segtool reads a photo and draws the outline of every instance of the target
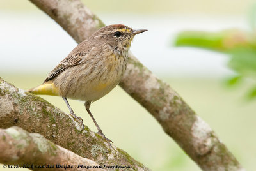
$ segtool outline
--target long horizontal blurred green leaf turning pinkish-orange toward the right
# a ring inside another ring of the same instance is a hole
[[[230,52],[237,48],[256,48],[255,40],[255,36],[239,29],[219,32],[184,31],[178,34],[175,45]]]

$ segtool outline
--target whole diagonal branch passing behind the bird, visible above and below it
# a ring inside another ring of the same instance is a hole
[[[30,0],[56,20],[77,43],[103,26],[79,0]],[[179,94],[130,54],[120,86],[136,99],[203,170],[241,170],[215,133]]]

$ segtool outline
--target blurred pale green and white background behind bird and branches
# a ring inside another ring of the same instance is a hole
[[[253,1],[83,1],[105,24],[126,24],[148,32],[135,38],[132,52],[177,91],[216,131],[246,170],[255,170],[255,100],[245,96],[255,80],[232,87],[237,75],[228,54],[174,47],[180,31],[250,29]],[[0,0],[0,77],[22,89],[41,84],[76,43],[29,1]],[[250,16],[250,15],[249,15]],[[62,98],[42,96],[68,112]],[[74,112],[97,131],[83,102]],[[200,170],[156,120],[120,87],[92,104],[92,113],[116,146],[152,170]],[[3,168],[0,166],[0,170]]]

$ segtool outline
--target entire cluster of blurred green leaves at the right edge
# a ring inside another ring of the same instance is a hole
[[[228,66],[236,76],[227,80],[228,85],[236,85],[241,80],[253,80],[248,98],[256,98],[256,4],[250,13],[252,31],[228,29],[219,32],[183,31],[178,34],[175,45],[199,47],[230,55]]]

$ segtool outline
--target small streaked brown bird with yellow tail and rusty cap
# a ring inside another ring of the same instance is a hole
[[[51,71],[42,85],[28,91],[33,94],[61,96],[70,115],[82,125],[83,120],[74,114],[67,98],[85,101],[85,108],[92,117],[99,135],[110,145],[109,142],[112,141],[103,134],[89,108],[93,101],[108,94],[120,82],[127,66],[131,41],[136,34],[144,31],[147,30],[134,30],[122,24],[102,27],[77,45]]]

